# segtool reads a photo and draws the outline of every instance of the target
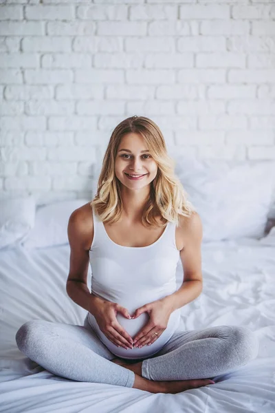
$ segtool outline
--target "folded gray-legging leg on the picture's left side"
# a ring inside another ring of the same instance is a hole
[[[17,346],[31,360],[74,381],[133,387],[135,374],[111,363],[115,357],[89,327],[31,320],[16,334]]]

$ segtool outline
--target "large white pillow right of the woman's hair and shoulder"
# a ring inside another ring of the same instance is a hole
[[[275,162],[174,159],[175,172],[201,217],[203,242],[264,236]]]

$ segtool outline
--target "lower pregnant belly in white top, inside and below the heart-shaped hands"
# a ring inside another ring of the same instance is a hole
[[[133,338],[135,337],[137,332],[139,332],[142,329],[142,327],[148,323],[149,316],[148,313],[142,313],[136,319],[126,319],[126,317],[118,313],[116,318],[118,320],[118,323]],[[166,330],[162,332],[162,335],[160,335],[154,341],[154,343],[151,344],[151,346],[147,346],[146,344],[142,348],[134,347],[126,350],[126,348],[118,347],[115,344],[113,344],[112,341],[110,341],[98,327],[94,315],[88,313],[89,324],[91,324],[91,327],[94,328],[96,334],[98,335],[102,343],[104,343],[104,345],[107,346],[109,351],[111,351],[116,356],[121,357],[122,359],[144,359],[150,357],[151,355],[161,350],[164,344],[166,344],[170,337],[172,337],[173,332],[177,329],[179,325],[179,319],[180,309],[177,309],[170,315]]]

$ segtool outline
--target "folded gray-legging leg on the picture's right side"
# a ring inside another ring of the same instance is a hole
[[[140,372],[159,381],[211,378],[244,366],[258,352],[256,335],[243,326],[179,328],[162,350],[140,363]]]

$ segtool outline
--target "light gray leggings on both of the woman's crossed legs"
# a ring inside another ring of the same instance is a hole
[[[133,387],[135,374],[118,364],[89,325],[27,321],[16,335],[17,346],[40,366],[74,381]],[[255,359],[259,341],[242,326],[203,330],[178,328],[165,346],[142,361],[142,377],[149,380],[211,379]],[[127,360],[129,361],[129,360]]]

